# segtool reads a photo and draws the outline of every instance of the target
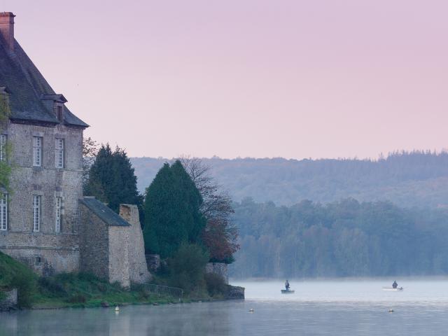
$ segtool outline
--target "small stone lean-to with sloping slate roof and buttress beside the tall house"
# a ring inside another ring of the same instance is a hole
[[[120,206],[118,216],[94,197],[80,200],[80,267],[85,272],[119,282],[145,283],[151,279],[146,267],[144,241],[135,205]]]

